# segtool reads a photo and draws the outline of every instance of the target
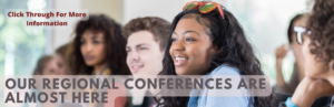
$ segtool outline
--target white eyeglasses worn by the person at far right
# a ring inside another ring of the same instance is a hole
[[[303,26],[294,26],[294,31],[296,33],[296,40],[298,44],[303,44],[305,40],[304,38],[311,34],[311,31],[306,31],[306,29]]]

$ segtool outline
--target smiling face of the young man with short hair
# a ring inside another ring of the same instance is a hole
[[[127,65],[134,75],[157,75],[163,69],[163,52],[153,33],[138,31],[129,35]]]

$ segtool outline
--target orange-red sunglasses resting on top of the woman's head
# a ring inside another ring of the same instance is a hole
[[[219,3],[216,3],[216,2],[206,2],[206,1],[190,1],[188,2],[183,11],[186,11],[186,10],[193,10],[193,9],[197,9],[198,8],[198,11],[200,13],[209,13],[212,12],[213,10],[215,10],[216,8],[218,8],[218,11],[222,15],[223,19],[225,19],[225,14],[222,10],[222,6]],[[223,7],[224,8],[224,7]]]

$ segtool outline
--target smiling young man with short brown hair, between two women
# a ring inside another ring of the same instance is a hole
[[[122,32],[128,40],[127,65],[132,75],[158,75],[163,69],[170,23],[156,17],[137,18],[129,21]],[[143,94],[151,95],[154,92],[145,90]],[[141,105],[134,107],[151,107],[154,101],[154,97],[144,97]]]

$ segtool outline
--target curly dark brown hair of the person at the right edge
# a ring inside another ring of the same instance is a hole
[[[308,20],[307,30],[310,51],[320,61],[330,63],[334,60],[334,1],[316,0]],[[334,64],[332,65],[334,68]]]

